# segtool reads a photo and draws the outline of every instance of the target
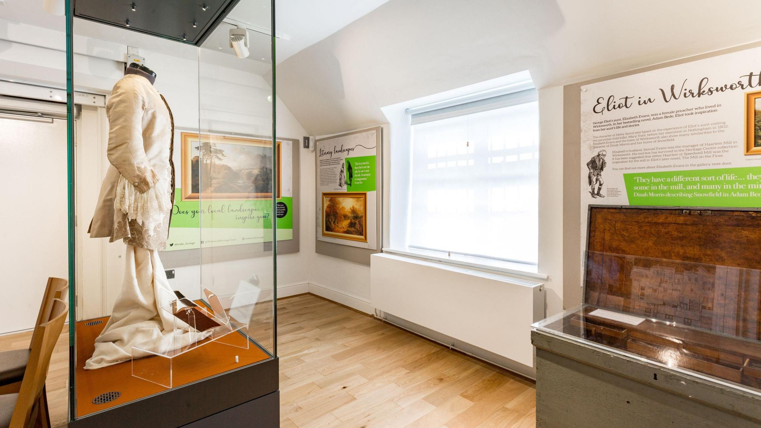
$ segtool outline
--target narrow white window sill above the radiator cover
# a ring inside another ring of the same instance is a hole
[[[533,264],[513,263],[482,257],[463,256],[460,254],[447,256],[447,254],[441,253],[440,251],[419,250],[418,248],[404,248],[403,250],[384,248],[383,252],[386,254],[396,254],[398,256],[412,257],[422,260],[438,261],[444,264],[469,267],[476,270],[491,270],[492,272],[524,276],[532,279],[546,280],[548,278],[545,274],[538,273],[537,266]]]

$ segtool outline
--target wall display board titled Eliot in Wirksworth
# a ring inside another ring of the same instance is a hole
[[[761,48],[582,86],[580,181],[583,224],[589,204],[761,207]]]

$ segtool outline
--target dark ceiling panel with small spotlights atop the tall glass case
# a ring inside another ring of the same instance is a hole
[[[76,0],[74,15],[199,46],[238,0]]]

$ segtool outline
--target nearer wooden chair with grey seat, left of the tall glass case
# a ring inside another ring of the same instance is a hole
[[[53,299],[49,321],[34,329],[34,341],[27,369],[18,393],[0,395],[0,428],[30,428],[38,423],[49,428],[43,388],[50,366],[50,356],[61,336],[68,314],[68,305],[61,299]]]

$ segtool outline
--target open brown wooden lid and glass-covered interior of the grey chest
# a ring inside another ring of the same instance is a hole
[[[591,206],[583,304],[533,327],[761,398],[759,220]]]

